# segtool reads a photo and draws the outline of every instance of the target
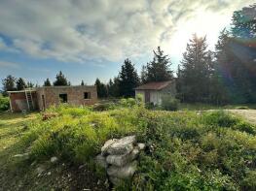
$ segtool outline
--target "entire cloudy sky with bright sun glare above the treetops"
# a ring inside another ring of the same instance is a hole
[[[213,49],[234,11],[255,0],[0,0],[0,79],[40,85],[58,71],[92,84],[118,75],[129,58],[138,72],[164,49],[176,70],[194,33]]]

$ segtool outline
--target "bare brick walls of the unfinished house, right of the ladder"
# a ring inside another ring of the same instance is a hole
[[[91,99],[84,99],[84,93],[90,92]],[[37,89],[39,109],[44,110],[42,95],[45,97],[45,108],[60,104],[59,94],[67,94],[67,103],[70,105],[92,105],[97,102],[96,86],[49,86]]]

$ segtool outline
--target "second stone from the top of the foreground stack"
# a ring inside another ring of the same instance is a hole
[[[134,160],[139,153],[138,149],[133,149],[131,152],[128,154],[123,154],[123,155],[108,155],[106,158],[106,162],[111,165],[115,165],[118,167],[122,167],[132,160]]]

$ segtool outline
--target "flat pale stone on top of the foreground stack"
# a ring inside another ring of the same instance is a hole
[[[110,144],[107,148],[107,153],[110,155],[122,155],[127,154],[133,149],[133,143],[136,142],[135,136],[128,136],[123,139]]]

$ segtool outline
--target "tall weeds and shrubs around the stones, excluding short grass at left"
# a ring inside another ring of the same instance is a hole
[[[47,117],[46,117],[47,116]],[[91,164],[111,138],[137,135],[147,148],[118,189],[255,190],[256,128],[224,111],[148,111],[123,100],[108,111],[61,106],[28,124],[31,159]]]

